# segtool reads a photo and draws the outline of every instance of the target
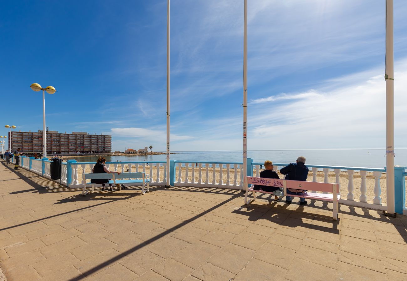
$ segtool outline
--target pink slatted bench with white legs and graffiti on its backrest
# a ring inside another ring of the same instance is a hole
[[[312,192],[307,191],[303,195],[291,195],[291,197],[303,197],[303,198],[308,198],[312,200],[322,200],[322,201],[328,201],[333,203],[333,214],[332,218],[334,220],[338,219],[338,201],[341,198],[341,195],[339,193],[339,184],[330,184],[330,183],[325,183],[325,182],[302,182],[302,181],[293,181],[289,179],[268,179],[264,177],[246,177],[245,176],[245,183],[244,186],[247,186],[247,184],[258,184],[261,186],[274,186],[274,187],[279,187],[283,188],[283,195],[287,196],[287,188],[293,188],[293,189],[304,189],[304,190],[313,190]],[[247,200],[247,196],[249,192],[253,192],[253,199],[252,200]],[[324,193],[317,193],[315,191],[320,191]],[[253,188],[246,188],[246,194],[245,194],[245,204],[249,204],[250,201],[256,200],[256,192],[260,193],[269,193],[272,194],[273,192],[267,192],[263,190],[254,190]],[[330,194],[326,193],[329,192]]]

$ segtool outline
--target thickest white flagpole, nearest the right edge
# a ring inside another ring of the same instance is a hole
[[[394,212],[394,67],[393,0],[386,0],[386,192],[387,214]]]

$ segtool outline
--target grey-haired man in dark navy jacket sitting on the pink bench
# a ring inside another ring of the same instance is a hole
[[[309,169],[305,166],[305,157],[300,156],[295,163],[290,163],[284,168],[281,168],[280,173],[286,175],[285,179],[291,179],[295,181],[306,181],[308,177]],[[287,194],[291,195],[303,195],[306,190],[287,188]],[[291,204],[291,196],[285,198],[285,202]],[[306,205],[308,202],[305,198],[300,198],[300,205]]]

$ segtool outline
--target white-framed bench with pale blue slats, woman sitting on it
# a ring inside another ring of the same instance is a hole
[[[148,174],[147,174],[148,176]],[[83,174],[83,185],[82,195],[87,195],[90,190],[86,190],[86,186],[92,185],[92,192],[95,191],[95,184],[92,182],[86,182],[87,179],[109,179],[109,182],[106,184],[114,184],[121,190],[121,186],[135,186],[136,184],[141,184],[141,192],[142,194],[150,191],[150,179],[146,178],[145,173],[120,173],[118,174],[108,174],[108,173],[100,173],[100,174]],[[144,190],[145,184],[147,183],[147,190]]]

